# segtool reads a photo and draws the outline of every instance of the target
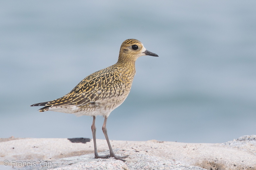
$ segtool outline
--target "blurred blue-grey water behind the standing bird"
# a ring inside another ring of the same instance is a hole
[[[0,137],[91,138],[92,118],[31,104],[67,94],[117,61],[136,62],[112,140],[220,143],[256,134],[256,1],[1,1]],[[102,117],[97,138],[104,139]]]

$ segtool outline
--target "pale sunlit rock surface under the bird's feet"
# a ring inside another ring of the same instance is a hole
[[[126,162],[95,159],[88,138],[0,139],[0,170],[256,170],[255,135],[222,144],[156,140],[111,144],[116,155],[129,155]],[[109,153],[105,140],[97,140],[97,145],[102,155]]]

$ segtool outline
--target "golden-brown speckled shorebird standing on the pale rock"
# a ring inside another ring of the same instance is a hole
[[[115,64],[96,71],[84,78],[73,90],[65,96],[31,106],[43,106],[39,112],[56,111],[71,113],[76,116],[87,115],[93,117],[91,131],[94,144],[95,158],[110,158],[125,161],[127,156],[114,154],[107,134],[107,119],[110,113],[120,106],[128,96],[135,70],[135,61],[144,55],[158,57],[157,54],[145,49],[142,42],[136,39],[125,40],[120,47],[119,57]],[[103,116],[103,134],[106,138],[110,154],[98,155],[96,144],[96,116]]]

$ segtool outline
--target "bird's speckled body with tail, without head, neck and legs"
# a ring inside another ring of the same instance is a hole
[[[32,106],[45,106],[39,109],[40,112],[51,110],[77,116],[108,116],[128,96],[134,75],[135,66],[116,63],[87,76],[65,96]]]

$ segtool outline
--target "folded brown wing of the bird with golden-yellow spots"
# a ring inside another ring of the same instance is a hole
[[[95,72],[82,80],[73,90],[62,98],[49,101],[45,106],[77,106],[95,102],[98,99],[118,97],[126,87],[124,77],[120,72]]]

